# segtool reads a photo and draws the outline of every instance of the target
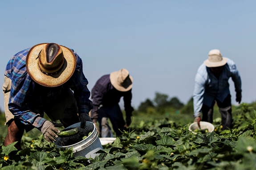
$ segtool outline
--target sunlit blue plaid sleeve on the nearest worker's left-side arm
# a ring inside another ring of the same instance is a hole
[[[30,48],[14,55],[6,66],[5,75],[12,80],[8,108],[25,125],[40,128],[45,122],[40,114],[33,113],[26,104],[26,94],[32,79],[26,70],[26,56]]]

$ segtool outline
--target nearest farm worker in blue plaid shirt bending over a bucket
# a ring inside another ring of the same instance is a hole
[[[4,73],[4,112],[8,134],[4,146],[20,140],[36,127],[47,141],[60,133],[54,122],[64,127],[91,121],[92,102],[82,60],[72,49],[57,43],[40,43],[14,55]],[[44,119],[44,112],[53,121]],[[77,115],[78,113],[78,115]]]

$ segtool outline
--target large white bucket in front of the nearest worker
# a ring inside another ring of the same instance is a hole
[[[69,127],[66,127],[65,129],[74,127],[79,128],[79,133],[69,137],[56,138],[55,144],[57,148],[70,149],[73,147],[73,155],[75,157],[83,156],[85,158],[95,158],[96,155],[99,155],[95,154],[95,152],[97,152],[98,150],[102,150],[103,148],[98,137],[98,130],[95,125],[92,122],[87,121],[85,123],[84,129],[80,127],[80,123],[75,123]],[[70,141],[74,139],[81,138],[87,135],[90,131],[92,133],[87,138],[74,144],[70,143]]]

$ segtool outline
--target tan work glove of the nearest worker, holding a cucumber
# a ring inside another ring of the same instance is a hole
[[[46,120],[45,123],[43,124],[43,126],[41,127],[41,132],[44,134],[45,139],[48,142],[53,142],[56,141],[55,138],[58,138],[58,135],[56,133],[61,133],[60,130],[58,130],[56,127],[54,127],[53,123],[51,123],[50,121]],[[53,138],[55,137],[55,138]]]

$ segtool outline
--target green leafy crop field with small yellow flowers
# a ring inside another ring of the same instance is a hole
[[[94,159],[73,157],[73,150],[57,149],[40,133],[24,134],[23,150],[17,151],[14,143],[1,145],[0,166],[2,170],[256,169],[256,111],[248,104],[233,111],[232,129],[221,130],[217,117],[215,131],[207,134],[192,134],[189,124],[162,116],[151,121],[134,116],[130,131],[103,146]]]

